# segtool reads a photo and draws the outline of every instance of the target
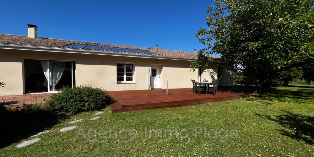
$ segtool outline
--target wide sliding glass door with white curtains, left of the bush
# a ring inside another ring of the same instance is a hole
[[[59,91],[75,84],[75,62],[25,60],[26,93]]]

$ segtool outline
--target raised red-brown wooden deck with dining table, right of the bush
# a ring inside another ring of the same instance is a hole
[[[168,95],[166,89],[109,91],[109,94],[116,99],[116,102],[110,105],[112,113],[192,106],[251,96],[232,92],[228,88],[222,88],[219,95],[215,96],[195,95],[192,88],[168,89]]]

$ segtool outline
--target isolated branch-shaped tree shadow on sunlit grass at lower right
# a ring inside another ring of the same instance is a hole
[[[282,115],[275,116],[274,118],[268,115],[256,115],[282,125],[285,129],[278,130],[282,135],[288,136],[297,141],[302,139],[308,144],[314,144],[314,117],[293,114],[285,110],[280,111],[284,113]]]

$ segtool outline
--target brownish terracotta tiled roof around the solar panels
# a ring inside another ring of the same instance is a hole
[[[1,44],[14,44],[14,45],[27,45],[27,46],[44,46],[44,47],[58,47],[66,48],[71,44],[86,44],[86,45],[95,45],[95,46],[108,46],[116,48],[129,48],[129,49],[138,49],[138,50],[148,50],[154,52],[155,54],[146,54],[146,55],[158,55],[158,56],[170,56],[170,57],[185,57],[185,58],[196,58],[198,53],[186,52],[186,51],[174,51],[174,50],[164,50],[164,49],[153,49],[146,47],[134,47],[134,46],[123,46],[123,45],[113,45],[113,44],[101,44],[94,42],[84,42],[84,41],[70,41],[70,40],[61,40],[61,39],[50,39],[50,38],[29,38],[27,36],[21,35],[8,35],[0,34],[0,43]],[[81,48],[71,48],[71,49],[81,49]],[[90,50],[90,49],[85,49]],[[104,51],[104,50],[97,50]],[[135,52],[127,52],[135,53]],[[219,58],[216,56],[211,56],[213,58]]]

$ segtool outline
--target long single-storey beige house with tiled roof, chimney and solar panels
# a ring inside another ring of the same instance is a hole
[[[57,92],[62,86],[89,84],[108,91],[192,88],[191,79],[232,86],[232,65],[214,57],[210,69],[190,71],[197,53],[0,34],[1,95]]]

